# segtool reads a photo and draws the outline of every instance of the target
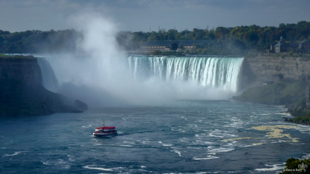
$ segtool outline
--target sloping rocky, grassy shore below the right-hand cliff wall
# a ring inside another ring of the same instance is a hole
[[[310,108],[306,107],[306,82],[278,81],[270,84],[261,84],[245,90],[241,95],[234,96],[233,100],[268,104],[285,105],[287,113],[294,118],[285,118],[284,121],[298,124],[310,124]]]

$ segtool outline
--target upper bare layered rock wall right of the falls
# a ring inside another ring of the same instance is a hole
[[[310,59],[287,56],[257,56],[244,59],[244,76],[260,82],[310,80]]]

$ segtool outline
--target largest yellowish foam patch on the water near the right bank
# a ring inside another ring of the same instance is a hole
[[[267,130],[270,131],[267,133],[267,135],[265,137],[268,138],[283,138],[283,137],[287,137],[289,139],[292,139],[292,142],[298,142],[298,138],[292,138],[292,136],[290,136],[290,134],[282,134],[283,129],[281,128],[286,128],[286,129],[290,129],[290,128],[298,128],[298,126],[293,126],[293,125],[265,125],[265,126],[254,126],[253,127],[256,130]]]

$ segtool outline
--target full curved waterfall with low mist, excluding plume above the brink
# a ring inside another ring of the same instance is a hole
[[[238,91],[243,64],[241,57],[129,56],[101,61],[101,57],[69,56],[48,60],[58,77],[59,92],[90,105],[229,99]],[[51,78],[44,82],[45,88],[55,89],[48,62],[39,62],[46,67],[43,78]]]

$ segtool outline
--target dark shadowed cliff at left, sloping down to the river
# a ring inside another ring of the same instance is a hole
[[[0,116],[82,112],[87,105],[46,90],[34,57],[0,57]]]

